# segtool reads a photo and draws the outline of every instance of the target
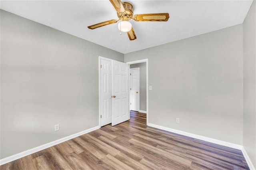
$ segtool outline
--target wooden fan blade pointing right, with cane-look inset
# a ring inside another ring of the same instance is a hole
[[[138,14],[134,15],[134,21],[168,21],[169,13]]]

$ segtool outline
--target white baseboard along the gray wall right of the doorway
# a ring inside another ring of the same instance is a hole
[[[181,131],[181,130],[176,130],[176,129],[172,129],[172,128],[168,128],[168,127],[162,127],[160,125],[155,125],[155,124],[152,124],[152,123],[149,123],[148,126],[154,127],[154,128],[159,128],[159,129],[162,129],[162,130],[166,130],[168,132],[173,132],[173,133],[177,133],[177,134],[182,134],[184,136],[204,140],[206,142],[212,142],[214,144],[220,144],[222,146],[227,146],[227,147],[234,148],[234,149],[242,150],[242,147],[243,147],[242,145],[239,145],[239,144],[225,142],[225,141],[222,141],[222,140],[209,138],[209,137],[206,137],[206,136],[201,136],[201,135],[193,134],[193,133],[189,133],[189,132],[184,132],[184,131]]]

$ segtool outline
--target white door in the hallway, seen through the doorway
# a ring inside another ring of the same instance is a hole
[[[130,69],[130,110],[140,110],[140,68]]]

